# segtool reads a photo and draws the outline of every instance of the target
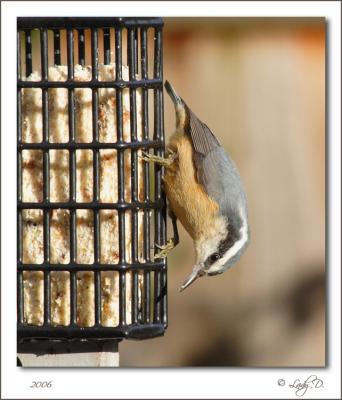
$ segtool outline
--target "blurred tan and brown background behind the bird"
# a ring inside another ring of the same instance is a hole
[[[178,293],[194,262],[180,227],[166,334],[122,341],[120,365],[324,366],[325,20],[165,18],[164,78],[237,163],[251,243]]]

